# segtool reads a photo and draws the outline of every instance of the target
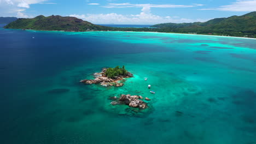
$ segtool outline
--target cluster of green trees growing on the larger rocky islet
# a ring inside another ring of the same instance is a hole
[[[125,66],[123,65],[122,68],[119,67],[119,65],[115,68],[108,68],[106,70],[106,76],[108,78],[113,79],[115,76],[125,76],[127,75],[127,70],[125,69]]]

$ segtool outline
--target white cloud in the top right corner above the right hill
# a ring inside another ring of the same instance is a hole
[[[229,5],[218,8],[208,8],[199,10],[220,10],[220,11],[256,11],[256,0],[237,0]]]

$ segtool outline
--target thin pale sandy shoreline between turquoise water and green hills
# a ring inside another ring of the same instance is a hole
[[[19,29],[19,28],[4,28],[4,29]],[[23,30],[23,29],[20,29]],[[37,30],[37,29],[25,29],[25,31],[45,31],[45,32],[80,32],[80,31],[49,31],[49,30]],[[136,32],[136,31],[81,31],[84,32]],[[141,33],[141,32],[138,32]],[[164,33],[164,34],[189,34],[189,33],[165,33],[165,32],[144,32],[144,33]],[[234,37],[234,36],[224,36],[224,35],[207,35],[207,34],[189,34],[189,35],[203,35],[210,37],[224,37],[224,38],[243,38],[243,39],[256,39],[256,38],[245,38],[245,37]]]

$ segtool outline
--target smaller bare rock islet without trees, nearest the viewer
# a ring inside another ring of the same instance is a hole
[[[138,107],[139,109],[146,109],[148,107],[147,103],[144,103],[143,97],[141,95],[131,95],[131,94],[121,94],[120,98],[110,97],[110,99],[115,100],[110,104],[112,105],[129,105],[130,107]],[[145,98],[150,100],[149,98]]]

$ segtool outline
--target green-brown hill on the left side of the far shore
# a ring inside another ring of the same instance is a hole
[[[86,31],[95,30],[100,31],[108,27],[94,25],[88,21],[77,19],[76,17],[62,17],[59,15],[52,15],[45,17],[39,15],[33,19],[18,19],[9,23],[4,28],[17,28],[17,29],[36,29],[48,31]]]

